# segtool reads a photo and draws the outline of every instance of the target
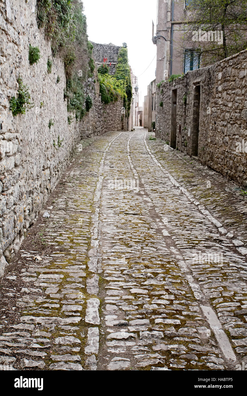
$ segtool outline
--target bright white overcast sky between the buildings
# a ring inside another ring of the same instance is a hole
[[[147,86],[155,79],[156,46],[152,42],[152,19],[156,31],[157,0],[83,0],[88,38],[96,43],[128,46],[128,58],[138,78],[140,106]]]

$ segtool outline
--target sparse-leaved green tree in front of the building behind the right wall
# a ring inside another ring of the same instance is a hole
[[[185,48],[188,42],[191,48],[193,32],[218,30],[216,39],[193,41],[193,50],[204,55],[205,65],[247,48],[247,0],[191,0],[187,8],[193,9],[193,16],[184,36]]]

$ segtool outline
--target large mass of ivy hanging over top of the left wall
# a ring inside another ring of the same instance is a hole
[[[64,60],[67,79],[64,97],[68,99],[68,111],[74,112],[77,120],[86,112],[84,82],[94,73],[93,46],[88,41],[86,16],[82,11],[79,0],[37,0],[38,27],[44,29],[50,40],[52,55],[59,54]],[[52,67],[50,62],[48,72]],[[59,81],[58,76],[57,84]]]

